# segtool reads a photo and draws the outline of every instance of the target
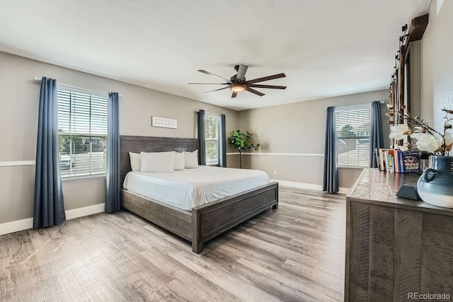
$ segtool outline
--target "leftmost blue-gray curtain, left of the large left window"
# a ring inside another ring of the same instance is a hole
[[[59,173],[57,81],[41,80],[36,147],[33,228],[56,226],[66,220]]]

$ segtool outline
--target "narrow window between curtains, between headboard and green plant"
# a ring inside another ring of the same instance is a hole
[[[206,165],[219,164],[219,121],[219,115],[205,114]]]

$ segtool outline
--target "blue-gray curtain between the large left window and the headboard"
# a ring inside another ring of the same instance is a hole
[[[120,110],[118,93],[108,93],[107,167],[105,168],[105,212],[120,211]]]

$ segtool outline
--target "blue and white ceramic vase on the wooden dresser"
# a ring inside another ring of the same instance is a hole
[[[431,156],[430,168],[417,182],[420,198],[428,204],[453,208],[453,156]]]

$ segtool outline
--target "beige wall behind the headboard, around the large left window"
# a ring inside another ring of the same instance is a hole
[[[120,134],[158,137],[196,137],[198,109],[226,115],[226,131],[238,124],[238,112],[168,93],[93,76],[0,52],[0,164],[35,161],[40,85],[35,76],[94,91],[117,91],[120,99]],[[178,120],[178,129],[151,127],[151,116]],[[231,150],[230,150],[231,151]],[[236,156],[231,157],[234,164]],[[0,223],[33,216],[35,165],[0,166]],[[105,178],[63,182],[66,210],[102,204]]]

